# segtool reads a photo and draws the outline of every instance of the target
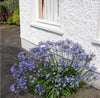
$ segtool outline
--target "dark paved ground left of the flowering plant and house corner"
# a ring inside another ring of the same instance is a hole
[[[21,51],[20,27],[6,28],[0,30],[0,98],[10,97],[10,85],[13,81],[11,66],[16,62],[17,54]]]

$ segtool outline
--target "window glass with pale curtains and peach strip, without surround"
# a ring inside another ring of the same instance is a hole
[[[60,22],[59,3],[59,0],[39,0],[39,20],[58,24]]]

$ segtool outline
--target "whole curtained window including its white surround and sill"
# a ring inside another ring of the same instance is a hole
[[[33,1],[31,27],[62,35],[62,0]]]

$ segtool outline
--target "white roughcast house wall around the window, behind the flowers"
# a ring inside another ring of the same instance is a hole
[[[98,35],[100,0],[62,0],[62,35],[34,28],[35,0],[20,0],[20,24],[22,48],[29,49],[40,41],[70,39],[78,42],[87,53],[93,52],[93,60],[100,72],[100,45],[93,44]],[[34,6],[32,6],[32,4]]]

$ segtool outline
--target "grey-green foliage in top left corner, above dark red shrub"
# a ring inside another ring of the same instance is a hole
[[[5,6],[8,13],[12,13],[16,8],[19,8],[19,0],[5,0],[1,2]]]

